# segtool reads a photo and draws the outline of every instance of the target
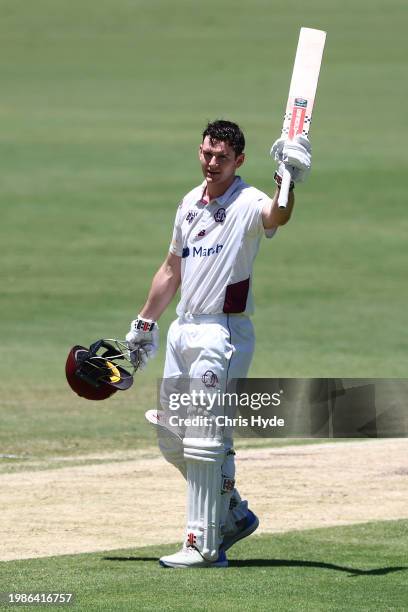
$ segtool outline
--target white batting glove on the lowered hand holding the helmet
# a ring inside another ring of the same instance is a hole
[[[138,315],[130,324],[126,334],[130,358],[134,364],[139,364],[141,370],[146,367],[149,359],[156,357],[159,350],[159,326],[152,319],[144,319]]]

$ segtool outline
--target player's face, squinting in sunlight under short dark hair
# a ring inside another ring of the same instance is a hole
[[[207,184],[222,185],[231,182],[245,156],[243,153],[236,156],[231,145],[220,140],[211,141],[206,136],[199,148],[199,159]]]

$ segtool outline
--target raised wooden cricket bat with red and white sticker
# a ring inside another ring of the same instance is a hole
[[[326,32],[323,30],[300,28],[282,138],[293,140],[297,134],[307,136],[309,133],[325,40]],[[278,198],[279,208],[286,208],[291,178],[290,169],[285,169]]]

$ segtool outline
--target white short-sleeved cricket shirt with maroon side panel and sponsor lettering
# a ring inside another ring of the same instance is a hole
[[[202,201],[206,182],[181,201],[170,252],[182,257],[177,314],[253,313],[252,266],[270,197],[237,176],[220,197]]]

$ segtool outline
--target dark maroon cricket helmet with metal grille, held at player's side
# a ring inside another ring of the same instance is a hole
[[[127,344],[120,340],[97,340],[89,348],[77,344],[65,364],[71,389],[90,400],[103,400],[129,389],[135,370]]]

